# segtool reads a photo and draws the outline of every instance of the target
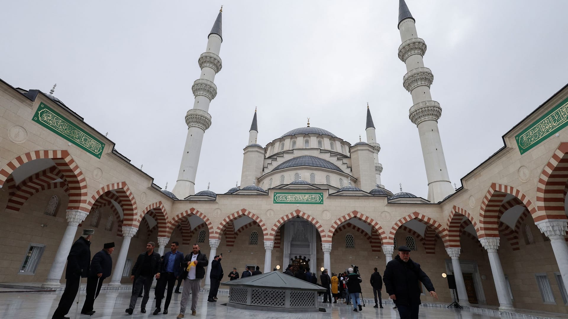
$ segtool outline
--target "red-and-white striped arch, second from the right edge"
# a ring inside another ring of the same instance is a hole
[[[479,238],[499,237],[499,209],[507,194],[516,196],[525,204],[531,215],[536,215],[536,208],[523,192],[512,186],[492,183],[481,202],[481,211],[479,212]],[[564,216],[566,217],[566,215]]]

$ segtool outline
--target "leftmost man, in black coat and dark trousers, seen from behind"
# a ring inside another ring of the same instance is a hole
[[[67,269],[65,270],[65,290],[59,305],[53,313],[52,319],[64,319],[65,314],[69,313],[69,309],[73,305],[73,301],[79,291],[81,278],[89,276],[89,263],[91,262],[91,237],[95,233],[94,229],[83,229],[83,233],[79,239],[74,242],[67,256]]]

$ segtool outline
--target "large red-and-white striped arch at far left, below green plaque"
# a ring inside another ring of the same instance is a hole
[[[69,204],[67,209],[78,209],[83,212],[89,212],[87,207],[87,182],[85,175],[81,171],[79,165],[66,150],[34,150],[26,154],[22,154],[0,169],[0,187],[6,182],[6,179],[13,171],[22,166],[22,164],[39,158],[51,158],[57,169],[64,175],[64,181],[69,188]],[[8,185],[10,187],[10,184]],[[9,188],[10,190],[10,188]]]

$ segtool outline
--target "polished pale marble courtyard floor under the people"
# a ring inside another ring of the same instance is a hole
[[[176,318],[179,313],[179,300],[181,294],[175,294],[172,298],[168,314],[158,314],[153,316],[154,300],[153,291],[151,292],[151,299],[148,301],[147,313],[140,313],[140,301],[138,300],[137,307],[132,316],[128,316],[124,309],[128,307],[130,301],[130,291],[108,291],[101,292],[101,295],[95,301],[95,310],[97,312],[90,318]],[[391,307],[383,309],[373,308],[373,304],[367,304],[362,312],[354,312],[352,306],[342,303],[337,304],[320,304],[320,307],[325,308],[327,312],[318,313],[279,313],[279,312],[264,312],[264,311],[250,311],[229,308],[222,304],[227,303],[227,295],[219,295],[219,300],[216,303],[208,303],[207,295],[203,296],[201,293],[199,298],[199,305],[197,307],[197,318],[219,318],[219,319],[232,319],[232,318],[247,318],[258,316],[265,319],[278,318],[306,318],[306,319],[340,319],[340,318],[399,318],[398,312]],[[85,295],[81,295],[81,299]],[[31,292],[31,293],[18,293],[18,292],[5,292],[0,293],[0,318],[2,319],[20,319],[20,318],[51,318],[57,303],[61,297],[61,292]],[[76,304],[68,314],[70,318],[89,319],[85,314],[77,314],[75,317]],[[82,300],[79,304],[79,310],[82,307]],[[186,318],[196,318],[191,316],[190,306],[187,306]],[[420,309],[420,318],[497,318],[483,316],[482,314],[475,314],[465,310],[446,309],[438,307],[423,307]]]

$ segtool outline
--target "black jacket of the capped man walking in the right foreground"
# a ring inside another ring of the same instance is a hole
[[[434,291],[430,278],[422,271],[419,263],[412,259],[403,262],[398,256],[387,263],[383,281],[387,294],[396,296],[394,303],[397,305],[421,304],[419,281],[428,291]]]

